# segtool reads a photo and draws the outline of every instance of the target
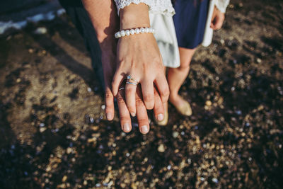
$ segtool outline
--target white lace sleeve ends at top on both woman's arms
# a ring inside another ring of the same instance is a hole
[[[129,4],[144,3],[149,6],[151,13],[161,13],[168,16],[173,16],[175,10],[172,6],[171,0],[114,0],[117,6],[118,14],[121,8],[128,6]],[[221,12],[226,11],[226,7],[229,4],[229,0],[216,0],[216,7]]]

